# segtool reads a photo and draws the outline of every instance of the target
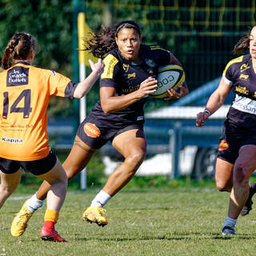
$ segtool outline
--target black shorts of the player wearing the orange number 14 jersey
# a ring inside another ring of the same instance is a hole
[[[26,173],[34,175],[46,174],[48,171],[54,168],[57,161],[56,155],[50,150],[50,153],[46,158],[34,160],[34,161],[16,161],[6,158],[0,158],[0,170],[5,174],[14,174],[22,167]]]

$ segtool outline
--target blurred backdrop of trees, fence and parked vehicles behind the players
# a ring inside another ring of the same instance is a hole
[[[186,72],[188,96],[172,102],[149,98],[146,104],[148,157],[138,175],[213,178],[218,137],[228,106],[201,130],[194,126],[194,120],[218,86],[226,63],[237,57],[232,54],[234,45],[255,25],[255,1],[0,0],[1,54],[15,32],[28,32],[38,40],[34,65],[78,82],[79,12],[86,14],[86,24],[93,31],[133,19],[141,26],[142,43],[170,50]],[[90,68],[86,67],[88,73]],[[227,105],[231,99],[232,95]],[[98,83],[86,96],[87,113],[97,100]],[[63,98],[50,102],[50,143],[63,159],[73,143],[78,108],[78,102]],[[87,185],[101,184],[99,180],[106,179],[120,161],[120,155],[107,144],[88,166]]]

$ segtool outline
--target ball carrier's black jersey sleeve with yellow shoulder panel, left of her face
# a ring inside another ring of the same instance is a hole
[[[100,87],[116,87],[118,85],[118,58],[108,54],[103,62],[105,67],[101,75]]]

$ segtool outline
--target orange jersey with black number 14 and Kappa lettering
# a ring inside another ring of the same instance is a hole
[[[0,157],[32,161],[49,154],[46,109],[52,96],[73,98],[76,83],[18,62],[0,73]]]

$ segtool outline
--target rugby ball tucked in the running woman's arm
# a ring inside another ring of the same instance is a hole
[[[168,89],[173,88],[177,90],[178,85],[184,82],[185,72],[182,67],[178,65],[160,66],[158,68],[157,80],[158,88],[150,95],[154,98],[165,98]]]

